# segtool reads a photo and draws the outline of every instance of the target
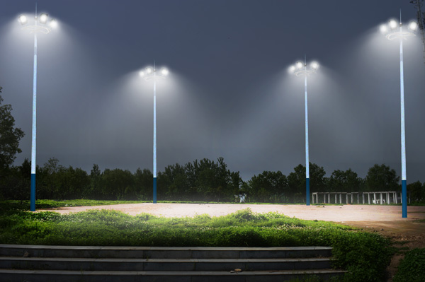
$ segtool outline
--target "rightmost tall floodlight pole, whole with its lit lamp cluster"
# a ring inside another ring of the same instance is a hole
[[[380,25],[380,32],[387,37],[388,40],[399,40],[400,42],[400,107],[401,107],[401,124],[402,124],[402,217],[407,218],[407,180],[406,180],[406,135],[404,131],[404,73],[403,73],[403,40],[408,37],[415,36],[414,32],[418,25],[412,21],[409,23],[407,30],[403,30],[402,13],[400,11],[400,21],[389,20],[387,24]]]

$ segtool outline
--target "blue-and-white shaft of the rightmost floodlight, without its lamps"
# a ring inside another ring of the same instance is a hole
[[[400,32],[402,32],[400,16]],[[403,39],[400,37],[400,108],[402,125],[402,218],[407,218],[407,180],[406,180],[406,134],[404,130],[404,69],[403,69]]]

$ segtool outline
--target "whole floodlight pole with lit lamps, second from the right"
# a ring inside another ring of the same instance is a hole
[[[307,76],[317,73],[319,64],[317,61],[312,61],[307,65],[307,60],[304,62],[297,61],[295,65],[290,66],[289,71],[295,76],[304,77],[304,100],[305,100],[305,202],[310,206],[310,160],[308,151],[308,109],[307,109]]]

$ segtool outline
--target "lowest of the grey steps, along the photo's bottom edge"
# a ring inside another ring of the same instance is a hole
[[[46,271],[0,269],[1,281],[16,282],[281,282],[319,276],[329,280],[345,271],[333,269],[299,271]]]

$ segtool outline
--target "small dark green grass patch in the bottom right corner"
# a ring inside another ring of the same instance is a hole
[[[425,248],[412,249],[399,264],[394,282],[423,282],[425,281]]]

